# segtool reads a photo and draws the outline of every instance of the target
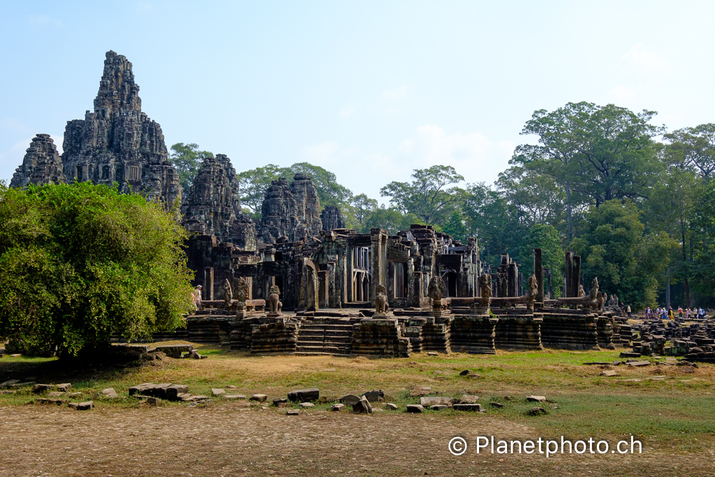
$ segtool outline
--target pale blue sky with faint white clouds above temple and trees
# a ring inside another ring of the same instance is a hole
[[[167,147],[238,171],[308,161],[378,199],[432,164],[493,182],[535,109],[715,122],[714,18],[711,1],[0,1],[0,179],[34,134],[61,147],[113,49]]]

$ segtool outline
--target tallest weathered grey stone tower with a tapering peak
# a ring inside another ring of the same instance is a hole
[[[181,198],[162,128],[142,112],[132,64],[114,51],[104,60],[94,112],[67,122],[63,148],[69,181],[117,182],[121,192],[141,192],[167,209]]]

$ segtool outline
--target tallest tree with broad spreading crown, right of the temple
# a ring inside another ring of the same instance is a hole
[[[661,172],[659,146],[652,138],[664,128],[649,124],[655,115],[588,102],[568,103],[553,112],[541,109],[521,131],[536,134],[539,144],[518,146],[510,163],[552,177],[563,187],[571,240],[574,201],[599,207],[608,200],[646,196]]]

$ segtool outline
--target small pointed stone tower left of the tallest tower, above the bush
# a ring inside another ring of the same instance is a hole
[[[65,182],[62,159],[49,134],[37,134],[15,170],[10,187],[25,187],[29,184],[44,185]]]

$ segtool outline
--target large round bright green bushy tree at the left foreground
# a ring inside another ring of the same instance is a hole
[[[0,336],[77,355],[183,323],[193,272],[162,205],[79,182],[0,185]]]

